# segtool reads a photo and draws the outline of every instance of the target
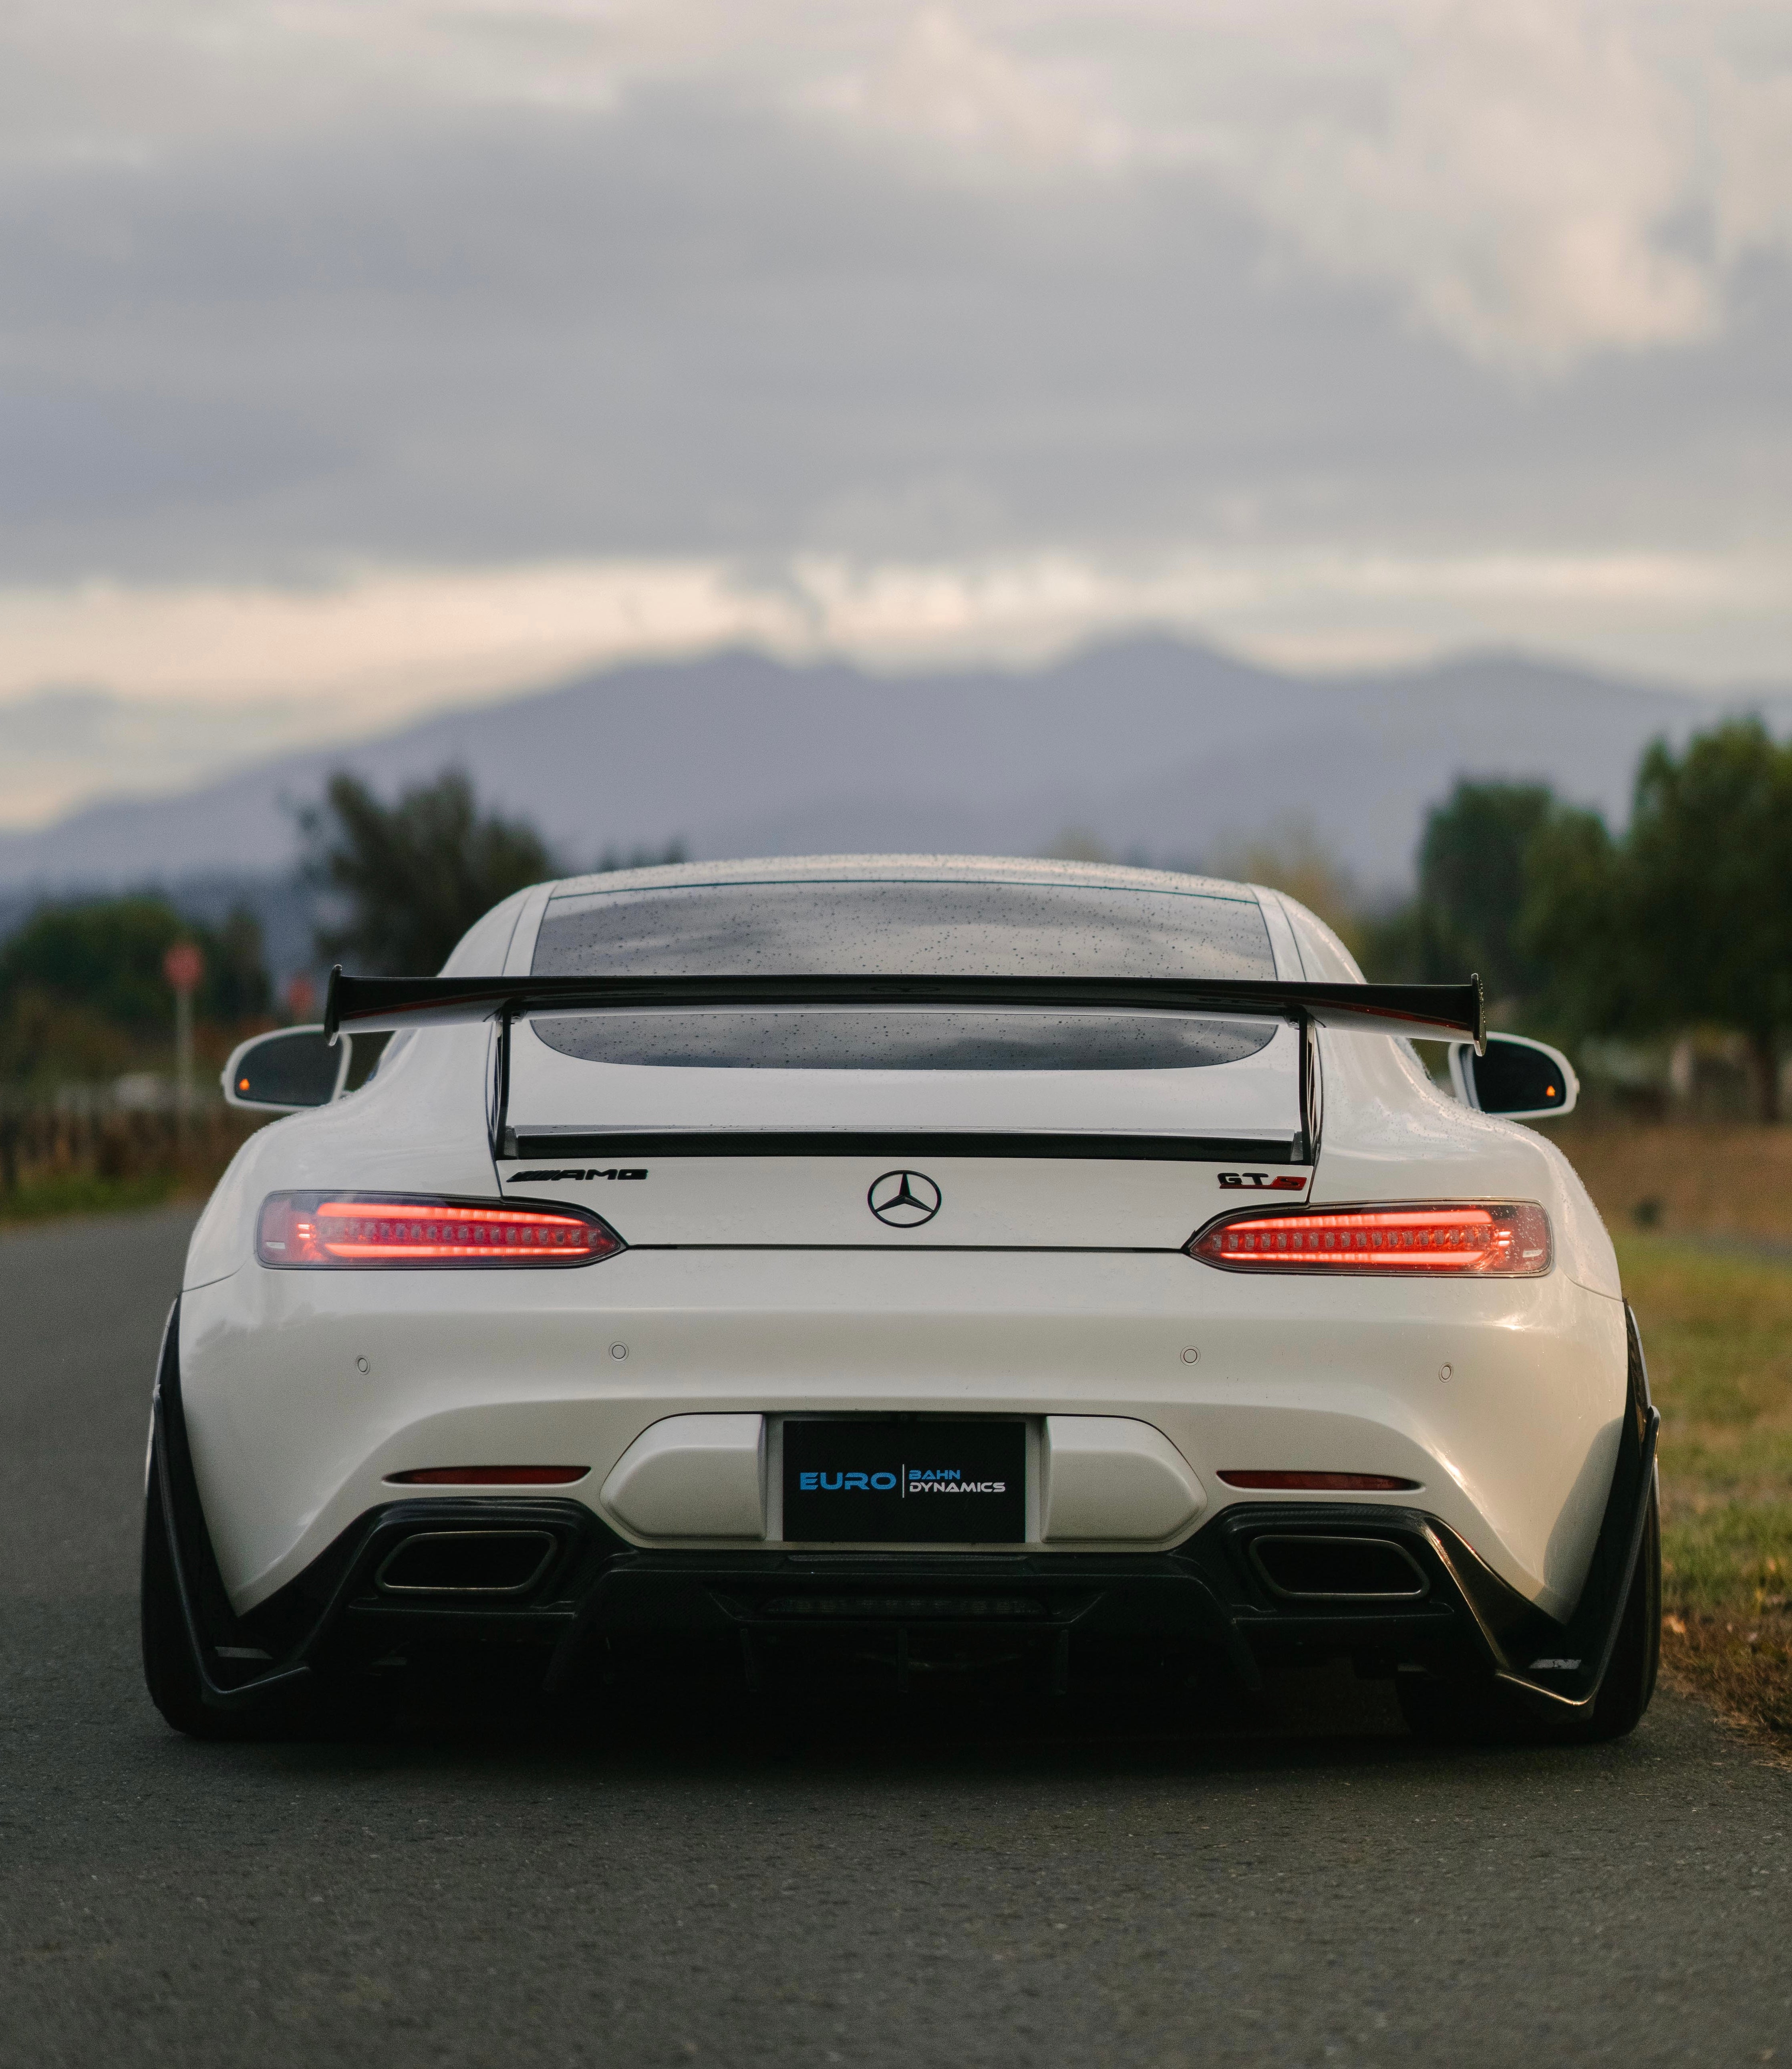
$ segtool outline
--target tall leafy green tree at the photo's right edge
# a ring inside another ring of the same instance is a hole
[[[1655,741],[1624,838],[1589,819],[1537,850],[1529,941],[1602,1032],[1734,1028],[1757,1111],[1778,1119],[1792,1032],[1792,745],[1753,718],[1678,755]]]

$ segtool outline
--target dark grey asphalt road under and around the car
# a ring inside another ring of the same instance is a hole
[[[186,1217],[0,1241],[0,2063],[1792,2061],[1792,1777],[1657,1697],[1430,1752],[401,1719],[201,1746],[135,1635]]]

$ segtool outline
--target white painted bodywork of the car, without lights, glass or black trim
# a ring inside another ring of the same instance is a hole
[[[704,875],[751,867],[768,865]],[[824,865],[776,865],[805,867]],[[526,972],[552,890],[490,912],[449,972]],[[1360,979],[1302,906],[1240,896],[1262,908],[1277,977]],[[399,1037],[364,1090],[252,1136],[192,1235],[186,1421],[240,1612],[366,1510],[441,1492],[387,1481],[420,1467],[577,1463],[586,1477],[552,1492],[633,1543],[764,1550],[780,1541],[780,1417],[867,1411],[1024,1415],[1028,1539],[1047,1554],[1167,1548],[1262,1500],[1225,1469],[1384,1473],[1420,1492],[1297,1498],[1424,1508],[1527,1599],[1573,1610],[1624,1407],[1612,1246],[1554,1144],[1438,1092],[1403,1043],[1320,1032],[1310,1188],[1262,1198],[1537,1200],[1546,1275],[1217,1270],[1182,1246],[1250,1204],[1219,1183],[1235,1159],[970,1155],[925,1159],[942,1208],[919,1229],[867,1208],[888,1157],[668,1157],[646,1181],[540,1190],[596,1208],[631,1246],[592,1266],[257,1262],[257,1212],[277,1190],[515,1194],[505,1179],[528,1165],[490,1155],[490,1045],[484,1026]],[[1291,1030],[1204,1070],[824,1072],[590,1063],[521,1028],[511,1117],[1260,1136],[1289,1132],[1293,1072]]]

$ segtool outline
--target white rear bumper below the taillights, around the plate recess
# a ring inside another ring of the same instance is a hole
[[[395,1500],[393,1473],[581,1465],[575,1498],[617,1537],[697,1552],[704,1539],[635,1527],[604,1498],[652,1426],[913,1413],[1144,1423],[1188,1463],[1215,1521],[1237,1500],[1227,1469],[1415,1481],[1397,1500],[1566,1616],[1624,1401],[1620,1303],[1564,1272],[1260,1283],[1119,1252],[633,1252],[484,1275],[244,1266],[184,1297],[180,1357],[238,1612]],[[768,1539],[753,1527],[712,1543],[745,1554]]]

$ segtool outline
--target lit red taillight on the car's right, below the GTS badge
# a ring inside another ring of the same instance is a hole
[[[1194,1237],[1188,1254],[1231,1272],[1529,1279],[1550,1268],[1550,1217],[1535,1200],[1242,1215],[1213,1223]]]

